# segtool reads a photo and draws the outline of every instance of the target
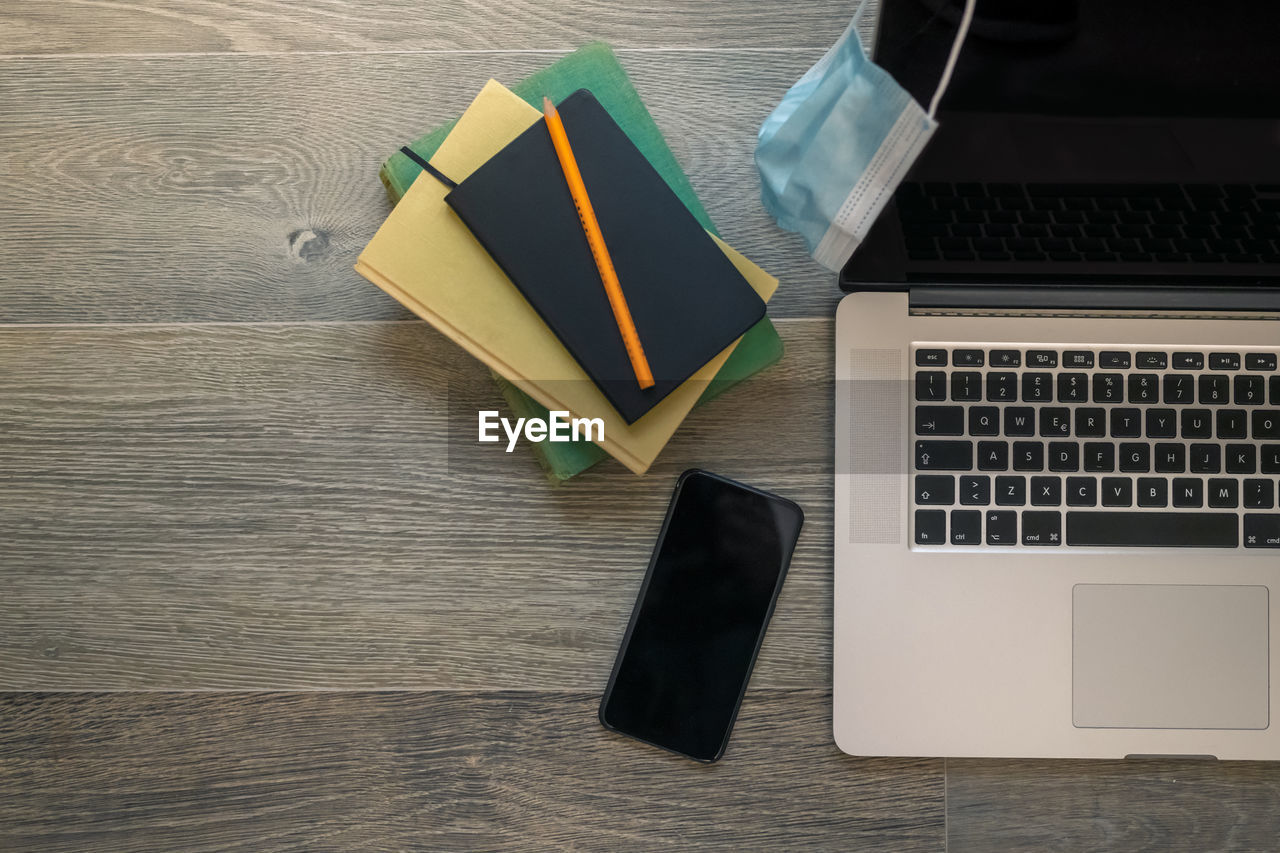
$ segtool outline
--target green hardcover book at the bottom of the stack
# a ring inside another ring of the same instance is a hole
[[[712,224],[710,216],[707,215],[707,210],[694,193],[689,178],[681,170],[662,132],[608,45],[603,42],[585,45],[516,83],[511,91],[536,109],[541,109],[544,95],[553,101],[559,101],[580,88],[591,90],[596,100],[604,105],[698,222],[709,232],[716,233],[716,225]],[[429,160],[448,137],[454,124],[457,124],[457,119],[410,142],[408,147],[424,160]],[[378,177],[387,188],[387,195],[393,205],[408,191],[421,170],[421,167],[399,151],[383,163]],[[782,338],[778,337],[769,318],[764,318],[742,336],[719,373],[699,397],[698,405],[719,396],[781,357]],[[547,418],[547,409],[538,401],[497,374],[494,378],[507,400],[507,405],[511,406],[517,418]],[[608,453],[591,442],[540,442],[532,444],[532,448],[548,478],[557,483],[581,474],[596,462],[608,459]]]

